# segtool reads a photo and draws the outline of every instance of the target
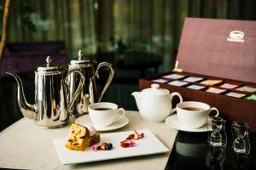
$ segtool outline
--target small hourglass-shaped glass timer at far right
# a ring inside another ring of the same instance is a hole
[[[232,122],[233,150],[236,153],[249,154],[251,150],[249,127],[246,122]]]

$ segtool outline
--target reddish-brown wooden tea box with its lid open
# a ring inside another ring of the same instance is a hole
[[[219,79],[228,83],[238,84],[238,87],[256,88],[256,21],[247,20],[217,20],[186,18],[177,53],[178,65],[175,74],[185,77],[203,77]],[[182,72],[178,72],[182,71]],[[190,85],[201,85],[200,82],[189,82],[183,86],[174,86],[175,81],[163,78],[173,71],[156,77],[143,78],[139,87],[149,88],[157,79],[167,82],[157,82],[161,88],[177,91],[184,100],[205,102],[217,107],[220,115],[230,122],[247,122],[250,131],[256,132],[256,101],[244,99],[255,92],[242,92],[243,98],[230,97],[226,94],[238,92],[236,88],[220,88],[221,83],[210,88],[225,89],[223,93],[212,94],[205,89],[195,90]],[[180,78],[179,81],[183,81]],[[240,92],[238,92],[240,93]]]

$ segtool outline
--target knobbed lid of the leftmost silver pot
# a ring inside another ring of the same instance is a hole
[[[59,65],[51,65],[52,59],[50,56],[47,56],[46,58],[46,66],[40,66],[38,67],[38,73],[40,74],[58,74],[61,72],[62,68]]]

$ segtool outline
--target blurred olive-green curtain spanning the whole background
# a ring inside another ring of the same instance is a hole
[[[36,31],[20,14],[26,5]],[[252,0],[12,0],[9,42],[63,40],[71,58],[79,48],[107,51],[113,38],[162,54],[167,71],[185,17],[256,20],[255,7]]]

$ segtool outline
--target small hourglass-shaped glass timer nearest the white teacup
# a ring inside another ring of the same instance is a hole
[[[209,144],[212,146],[227,145],[227,135],[225,133],[225,120],[222,117],[210,117],[212,122],[212,133],[208,138]]]

